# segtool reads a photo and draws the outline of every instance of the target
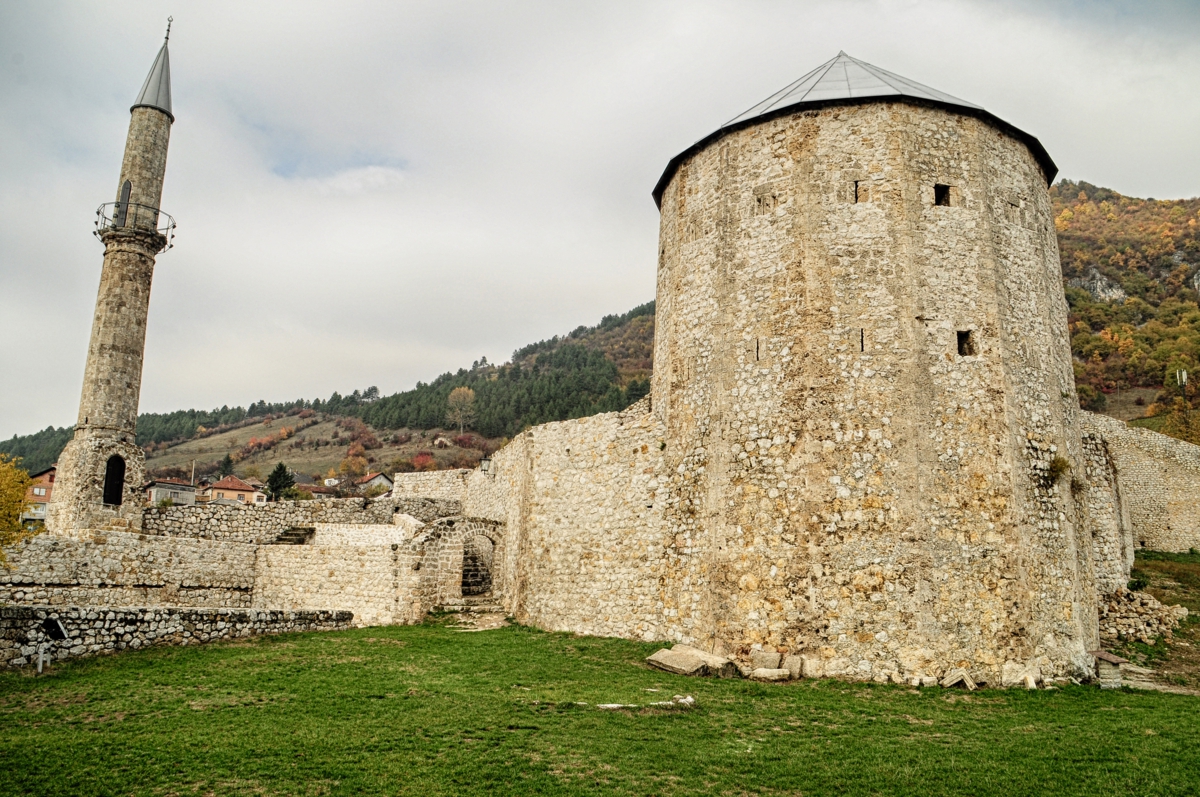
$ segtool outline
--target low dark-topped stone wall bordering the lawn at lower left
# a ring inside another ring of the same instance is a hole
[[[42,623],[55,618],[67,639],[54,641]],[[0,606],[0,667],[36,666],[38,647],[48,661],[160,645],[348,628],[349,612],[244,611],[232,609]]]

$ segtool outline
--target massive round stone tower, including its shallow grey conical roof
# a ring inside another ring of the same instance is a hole
[[[875,679],[1090,665],[1055,173],[845,54],[671,161],[652,397],[691,639]]]

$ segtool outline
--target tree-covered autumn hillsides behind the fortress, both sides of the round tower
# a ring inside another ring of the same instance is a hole
[[[1177,390],[1175,371],[1194,371],[1200,364],[1200,199],[1138,199],[1070,180],[1051,187],[1050,198],[1080,403],[1123,418],[1165,413],[1170,391]],[[650,301],[605,316],[595,326],[524,346],[503,365],[479,360],[390,396],[367,388],[326,400],[145,413],[138,418],[138,443],[157,451],[157,459],[186,441],[217,436],[212,445],[192,447],[217,456],[220,441],[233,445],[250,435],[235,430],[305,409],[323,418],[358,418],[379,432],[436,430],[446,424],[446,397],[457,386],[475,391],[473,431],[494,441],[536,424],[628,407],[649,390],[653,349]],[[1157,429],[1162,418],[1135,423]],[[1164,430],[1171,431],[1170,425]],[[71,427],[47,427],[14,436],[0,442],[0,453],[22,456],[26,468],[38,471],[58,459],[71,433]],[[380,451],[379,465],[421,439]],[[180,449],[174,460],[197,451]],[[313,468],[323,465],[320,457],[311,462]]]

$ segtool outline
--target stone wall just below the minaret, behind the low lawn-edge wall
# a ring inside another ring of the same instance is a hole
[[[254,546],[124,532],[40,534],[6,550],[0,603],[248,607]]]

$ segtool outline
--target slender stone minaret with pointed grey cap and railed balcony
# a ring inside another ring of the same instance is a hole
[[[170,20],[167,40],[170,37]],[[158,252],[174,229],[160,212],[170,112],[167,40],[130,108],[116,202],[96,211],[96,236],[104,244],[96,314],[74,437],[59,457],[47,526],[70,533],[85,528],[140,528],[145,455],[137,444],[142,356],[145,349],[150,281]]]

